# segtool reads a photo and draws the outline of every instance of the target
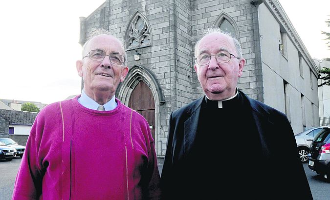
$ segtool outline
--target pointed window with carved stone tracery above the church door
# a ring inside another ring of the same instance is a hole
[[[125,44],[127,50],[151,46],[152,44],[150,25],[140,11],[135,12],[126,27]]]

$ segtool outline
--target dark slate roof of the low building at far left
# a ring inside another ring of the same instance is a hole
[[[0,116],[12,125],[32,125],[38,113],[0,109]]]

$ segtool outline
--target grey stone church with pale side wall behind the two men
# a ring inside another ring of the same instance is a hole
[[[79,42],[92,28],[124,41],[130,70],[115,96],[148,120],[163,158],[171,112],[203,95],[194,47],[212,26],[242,44],[240,90],[286,113],[295,134],[319,125],[319,71],[278,0],[106,0],[80,18]]]

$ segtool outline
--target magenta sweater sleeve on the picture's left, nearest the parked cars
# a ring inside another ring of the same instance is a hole
[[[28,137],[21,165],[19,167],[12,200],[37,200],[42,194],[42,163],[38,160],[40,140],[44,123],[37,116]]]

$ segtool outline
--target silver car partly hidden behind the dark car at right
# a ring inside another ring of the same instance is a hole
[[[327,127],[328,126],[308,128],[305,131],[298,133],[297,135],[294,136],[297,142],[297,148],[298,148],[300,160],[303,163],[307,163],[308,161],[307,155],[309,152],[310,144],[312,143],[313,139],[318,133],[320,133]]]

